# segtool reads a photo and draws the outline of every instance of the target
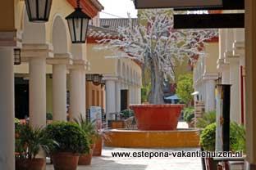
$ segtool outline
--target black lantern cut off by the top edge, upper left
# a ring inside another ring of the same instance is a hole
[[[53,0],[25,0],[30,22],[47,22]]]

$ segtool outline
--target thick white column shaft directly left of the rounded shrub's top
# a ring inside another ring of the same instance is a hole
[[[43,127],[46,124],[46,60],[30,58],[30,124]]]

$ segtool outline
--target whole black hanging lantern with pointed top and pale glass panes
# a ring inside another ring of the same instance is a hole
[[[85,43],[86,34],[91,19],[80,8],[80,0],[77,0],[75,11],[66,16],[67,25],[71,34],[72,43]]]

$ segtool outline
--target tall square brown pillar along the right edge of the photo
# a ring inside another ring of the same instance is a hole
[[[256,169],[256,1],[245,0],[246,160]]]

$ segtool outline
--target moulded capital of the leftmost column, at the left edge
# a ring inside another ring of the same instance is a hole
[[[0,47],[22,47],[21,31],[1,31],[0,32]]]

